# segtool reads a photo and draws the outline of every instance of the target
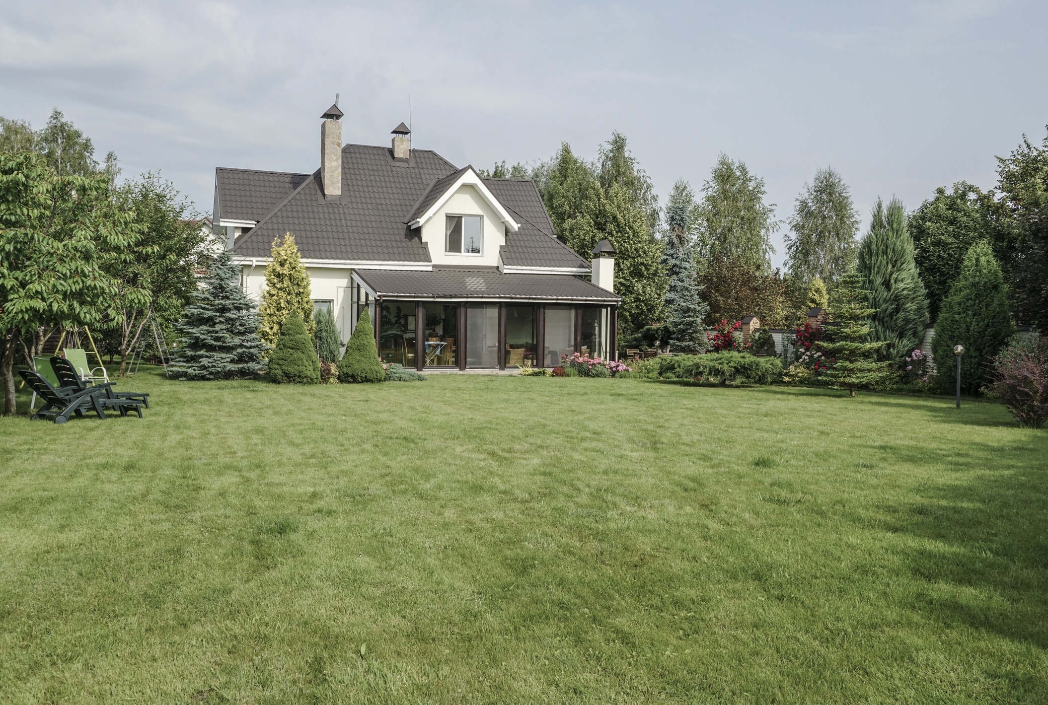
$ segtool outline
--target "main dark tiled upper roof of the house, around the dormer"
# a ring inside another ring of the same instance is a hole
[[[216,211],[258,224],[239,237],[233,251],[268,257],[272,241],[294,235],[305,260],[431,262],[417,230],[408,227],[468,168],[430,150],[412,150],[409,161],[386,147],[346,145],[342,150],[342,195],[326,202],[319,171],[286,174],[218,169]],[[589,269],[589,262],[556,239],[534,183],[484,179],[521,227],[508,233],[502,260],[512,267]]]

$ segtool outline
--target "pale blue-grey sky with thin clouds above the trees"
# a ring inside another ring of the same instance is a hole
[[[815,170],[878,197],[996,182],[1048,124],[1048,3],[65,2],[0,0],[0,115],[65,112],[124,176],[159,171],[210,214],[216,167],[312,172],[343,139],[458,166],[594,158],[613,131],[662,197],[718,155],[787,221]],[[783,262],[784,224],[772,238]]]

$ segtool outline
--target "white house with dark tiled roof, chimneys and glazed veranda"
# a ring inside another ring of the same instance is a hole
[[[344,340],[367,308],[387,362],[465,371],[615,356],[607,241],[592,262],[580,257],[532,181],[412,149],[402,123],[390,147],[343,146],[342,115],[322,115],[312,173],[215,170],[215,232],[248,294],[261,300],[272,242],[290,233],[314,305],[334,312]]]

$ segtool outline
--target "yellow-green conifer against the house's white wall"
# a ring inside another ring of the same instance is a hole
[[[313,300],[310,296],[309,274],[302,266],[294,236],[284,235],[284,241],[272,241],[272,260],[265,268],[265,291],[262,292],[262,339],[277,344],[280,329],[291,311],[298,311],[310,337],[314,333]]]

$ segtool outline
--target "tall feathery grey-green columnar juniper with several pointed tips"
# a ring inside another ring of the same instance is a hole
[[[870,232],[858,250],[874,340],[885,346],[878,359],[900,360],[920,345],[927,323],[927,299],[914,260],[914,241],[907,230],[902,202],[893,198],[885,207],[877,199]]]

